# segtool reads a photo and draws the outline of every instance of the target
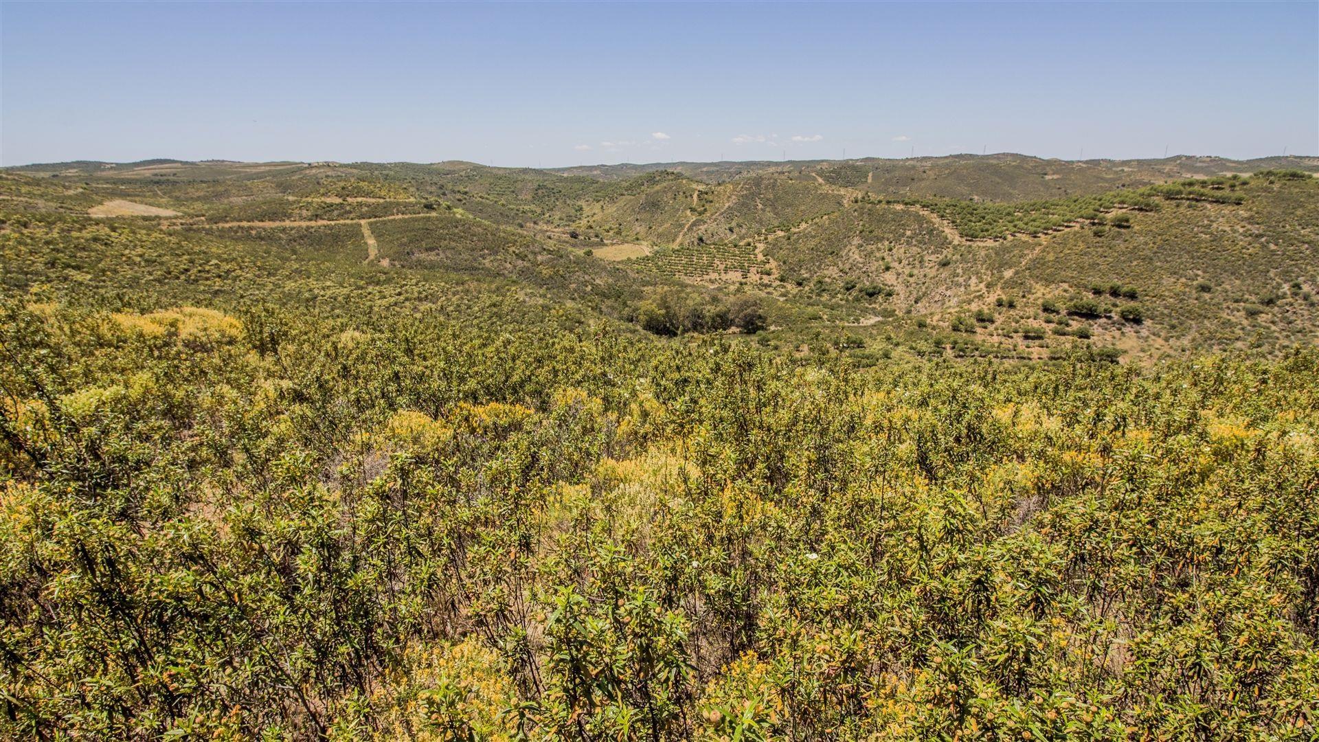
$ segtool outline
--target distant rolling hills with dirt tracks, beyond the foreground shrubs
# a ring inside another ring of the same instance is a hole
[[[381,287],[470,281],[477,294],[516,288],[642,326],[656,292],[754,300],[772,327],[760,342],[785,350],[1109,347],[1144,359],[1315,342],[1316,172],[1314,157],[1184,156],[551,170],[83,161],[4,169],[0,209],[11,223],[73,219],[88,235],[160,232],[218,265],[253,250],[291,260],[270,276],[321,264]],[[11,285],[70,280],[51,265],[73,238],[44,239],[7,259]],[[95,244],[84,248],[104,250]]]

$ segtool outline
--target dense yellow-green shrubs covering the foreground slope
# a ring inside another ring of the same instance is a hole
[[[1312,351],[0,326],[8,737],[1315,734]]]

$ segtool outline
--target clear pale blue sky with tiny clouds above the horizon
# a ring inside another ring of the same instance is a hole
[[[0,164],[1319,154],[1319,3],[0,5]]]

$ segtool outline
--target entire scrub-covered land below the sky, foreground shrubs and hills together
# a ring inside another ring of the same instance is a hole
[[[1312,739],[1315,172],[0,170],[0,737]]]

